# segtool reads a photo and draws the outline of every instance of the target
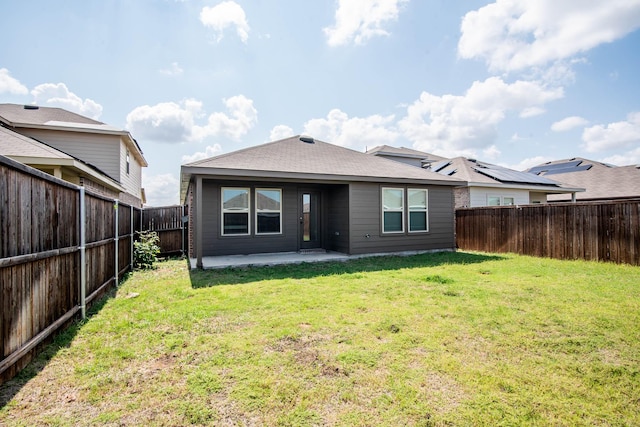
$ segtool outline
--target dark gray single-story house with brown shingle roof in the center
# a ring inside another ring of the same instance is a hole
[[[453,250],[455,178],[310,137],[182,166],[190,255]]]

